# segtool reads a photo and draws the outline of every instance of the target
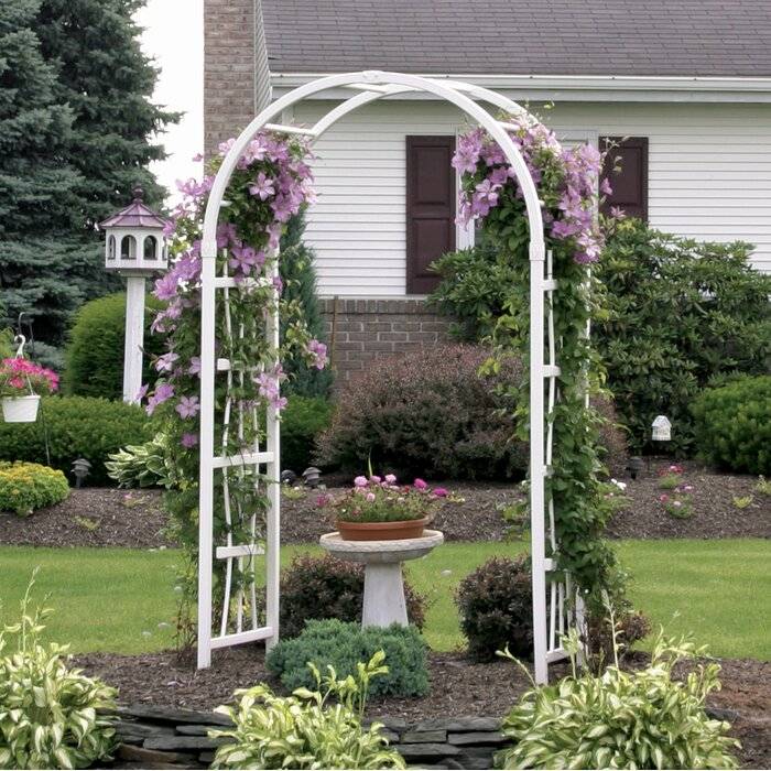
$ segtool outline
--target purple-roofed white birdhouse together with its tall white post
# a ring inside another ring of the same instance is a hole
[[[105,231],[105,269],[126,276],[123,401],[128,403],[139,401],[142,387],[145,279],[169,265],[166,221],[144,205],[141,187],[133,193],[130,206],[99,224]]]

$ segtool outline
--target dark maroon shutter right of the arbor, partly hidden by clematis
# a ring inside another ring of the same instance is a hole
[[[618,206],[627,217],[648,221],[648,138],[600,137],[600,149],[608,146],[602,175],[608,177],[613,192],[606,196],[602,214],[609,214],[611,206]],[[617,158],[621,159],[618,174],[613,172]]]

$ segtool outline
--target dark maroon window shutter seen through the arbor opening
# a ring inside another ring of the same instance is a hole
[[[427,294],[428,265],[455,250],[455,137],[406,138],[406,292]]]

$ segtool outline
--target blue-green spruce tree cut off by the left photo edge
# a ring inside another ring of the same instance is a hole
[[[73,113],[41,53],[39,8],[0,3],[0,326],[34,308],[43,326],[61,329],[79,302],[64,275],[82,177],[64,160]]]

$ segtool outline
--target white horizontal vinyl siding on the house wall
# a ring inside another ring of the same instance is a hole
[[[312,123],[332,106],[304,102],[294,120]],[[650,224],[749,241],[757,245],[753,263],[771,271],[771,106],[564,102],[543,115],[569,139],[648,137]],[[318,140],[319,197],[306,239],[323,295],[404,295],[405,137],[466,126],[446,104],[390,101],[347,116]]]

